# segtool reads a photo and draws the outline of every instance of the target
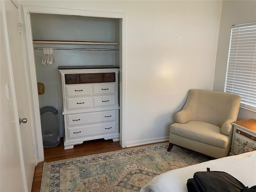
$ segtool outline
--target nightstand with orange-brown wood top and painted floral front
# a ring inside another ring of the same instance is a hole
[[[230,155],[256,150],[256,119],[235,121]]]

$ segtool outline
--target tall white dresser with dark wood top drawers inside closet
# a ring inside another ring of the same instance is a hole
[[[64,149],[99,138],[119,141],[119,67],[59,66],[59,71]]]

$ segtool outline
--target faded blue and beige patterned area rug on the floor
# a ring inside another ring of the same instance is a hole
[[[44,163],[41,192],[138,192],[154,176],[209,159],[168,143]]]

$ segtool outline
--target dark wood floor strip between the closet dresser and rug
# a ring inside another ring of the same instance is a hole
[[[83,144],[75,145],[73,149],[64,150],[64,143],[63,140],[61,140],[60,145],[56,147],[44,148],[44,162],[52,162],[122,149],[124,148],[120,146],[119,141],[113,142],[112,140],[100,139],[86,141]],[[40,192],[44,162],[40,162],[36,166],[32,192]]]

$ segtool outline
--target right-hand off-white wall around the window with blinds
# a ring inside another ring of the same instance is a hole
[[[224,91],[228,49],[232,25],[256,21],[256,1],[223,1],[220,20],[220,32],[213,89]],[[240,108],[238,120],[256,118],[256,113]]]

